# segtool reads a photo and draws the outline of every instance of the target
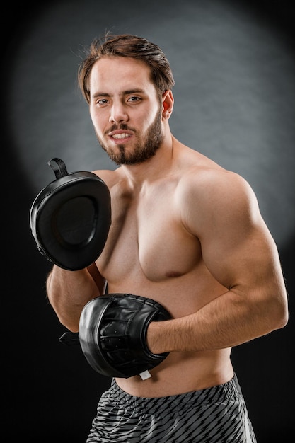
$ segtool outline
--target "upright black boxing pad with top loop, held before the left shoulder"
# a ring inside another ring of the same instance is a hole
[[[111,224],[110,191],[88,171],[68,173],[61,159],[49,166],[56,180],[43,188],[30,208],[30,229],[47,260],[80,270],[102,253]]]

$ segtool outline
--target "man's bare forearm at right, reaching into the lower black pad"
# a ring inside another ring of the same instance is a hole
[[[229,291],[188,316],[151,323],[147,343],[155,354],[216,350],[248,342],[285,324],[284,306],[276,297],[251,302]]]

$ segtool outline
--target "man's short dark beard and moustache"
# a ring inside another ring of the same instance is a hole
[[[120,151],[115,153],[106,147],[102,139],[100,139],[97,134],[96,137],[98,138],[100,146],[108,154],[110,159],[117,165],[135,165],[137,163],[143,163],[144,161],[151,159],[151,157],[156,154],[156,151],[158,151],[158,148],[163,141],[161,117],[162,113],[160,108],[154,122],[146,131],[144,139],[139,141],[139,144],[135,146],[134,151],[131,153],[125,151],[124,144],[117,145]],[[125,123],[122,123],[118,127],[114,127],[112,130],[115,129],[127,130],[128,126]]]

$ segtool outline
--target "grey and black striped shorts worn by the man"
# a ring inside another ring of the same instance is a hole
[[[130,396],[115,380],[100,397],[87,443],[256,443],[236,375],[161,398]]]

